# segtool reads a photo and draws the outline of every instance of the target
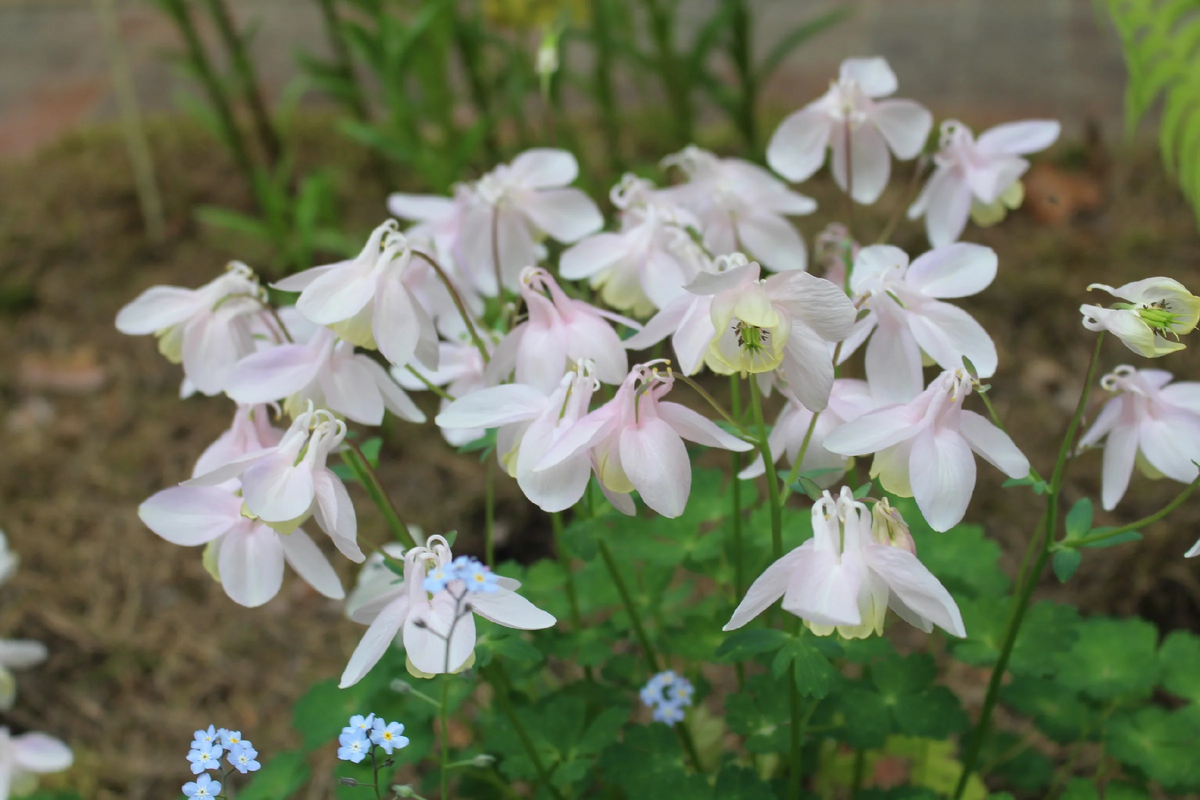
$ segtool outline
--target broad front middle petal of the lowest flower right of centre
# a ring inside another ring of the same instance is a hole
[[[858,590],[863,566],[838,553],[811,549],[792,565],[784,610],[817,625],[862,625]]]

